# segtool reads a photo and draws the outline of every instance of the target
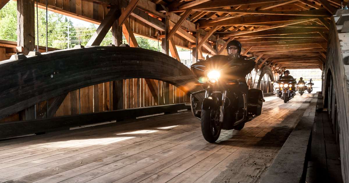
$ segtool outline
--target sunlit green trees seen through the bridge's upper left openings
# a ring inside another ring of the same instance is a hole
[[[46,46],[46,10],[38,8],[38,21],[35,7],[35,44],[39,37],[39,45]],[[91,23],[89,27],[74,26],[73,22],[66,16],[50,12],[48,13],[47,24],[47,45],[52,48],[66,49],[73,48],[74,45],[86,45],[97,27]],[[37,28],[37,24],[39,25]],[[37,34],[37,29],[39,34]],[[9,1],[0,10],[0,40],[17,41],[17,3]],[[38,36],[37,36],[38,35]],[[142,37],[136,37],[141,48],[158,50],[158,42]],[[126,39],[123,40],[127,43]],[[101,46],[111,44],[111,31],[103,39]],[[161,46],[160,46],[161,49]]]

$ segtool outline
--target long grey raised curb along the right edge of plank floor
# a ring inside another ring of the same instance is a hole
[[[261,183],[299,183],[305,181],[306,155],[315,119],[318,93],[310,99],[303,117],[280,149]]]

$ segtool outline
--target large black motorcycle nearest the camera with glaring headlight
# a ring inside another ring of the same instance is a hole
[[[262,113],[263,92],[250,89],[247,98],[239,90],[242,78],[234,74],[246,69],[244,63],[232,63],[226,58],[217,55],[191,66],[204,88],[190,96],[192,113],[201,120],[202,135],[211,143],[218,139],[221,129],[241,130],[247,121]],[[198,101],[196,96],[203,93],[203,101]]]

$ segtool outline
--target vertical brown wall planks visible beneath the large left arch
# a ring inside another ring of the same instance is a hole
[[[166,83],[158,80],[154,81],[158,87],[155,90],[160,92],[160,99],[164,100],[164,86]],[[154,100],[144,78],[124,79],[122,83],[124,91],[122,100],[124,109],[158,105],[158,101]],[[80,114],[114,110],[112,107],[113,100],[111,100],[113,91],[110,84],[112,84],[112,82],[101,83],[80,89]],[[186,93],[171,84],[169,96],[169,104],[189,102],[189,97]],[[38,105],[46,105],[46,102]],[[40,107],[37,107],[37,109],[39,108]],[[39,113],[40,112],[38,112],[38,114]],[[68,93],[54,116],[72,114],[79,114],[79,90]]]

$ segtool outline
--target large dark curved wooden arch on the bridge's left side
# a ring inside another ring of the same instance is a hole
[[[195,77],[176,59],[130,47],[88,47],[0,62],[0,119],[34,104],[103,82],[162,80],[191,93]]]

